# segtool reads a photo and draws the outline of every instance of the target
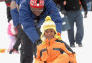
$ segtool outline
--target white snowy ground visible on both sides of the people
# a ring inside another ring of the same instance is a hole
[[[73,50],[76,52],[77,63],[92,63],[92,12],[88,12],[88,17],[84,18],[84,38],[83,47],[76,45]],[[0,3],[0,48],[8,48],[9,38],[7,36],[6,5]],[[76,27],[75,27],[76,28]],[[62,33],[62,39],[68,44],[67,32]],[[0,53],[0,63],[19,63],[19,54]]]

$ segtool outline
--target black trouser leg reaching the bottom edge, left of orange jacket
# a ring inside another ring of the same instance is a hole
[[[24,33],[24,32],[23,32]],[[30,39],[27,37],[27,35],[24,33],[22,35],[22,48],[21,49],[21,63],[32,63],[33,61],[33,43],[30,41]]]

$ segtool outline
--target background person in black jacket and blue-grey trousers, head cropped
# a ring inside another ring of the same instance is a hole
[[[85,0],[62,0],[62,8],[66,11],[71,29],[68,30],[68,38],[71,47],[75,47],[75,42],[82,47],[84,35],[83,16],[81,6],[84,9],[84,17],[87,17],[87,4]],[[74,35],[74,23],[76,23],[77,32]]]

